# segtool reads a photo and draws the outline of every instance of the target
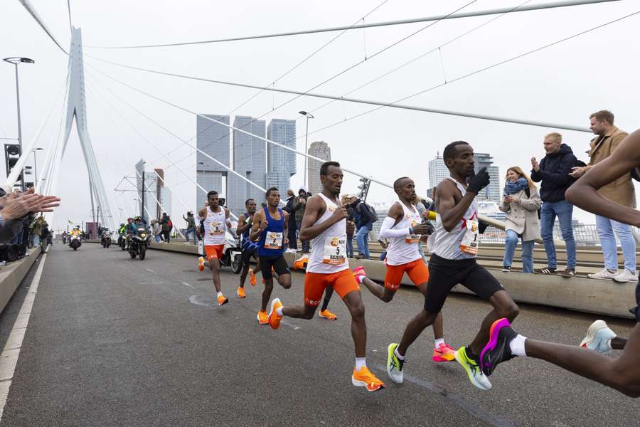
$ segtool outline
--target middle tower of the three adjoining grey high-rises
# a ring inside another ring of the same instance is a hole
[[[265,137],[265,120],[248,116],[235,116],[233,126],[252,135]],[[243,132],[233,131],[233,170],[250,181],[267,187],[267,142]],[[227,207],[237,216],[245,212],[246,199],[258,204],[265,200],[265,193],[235,174],[228,176]]]

